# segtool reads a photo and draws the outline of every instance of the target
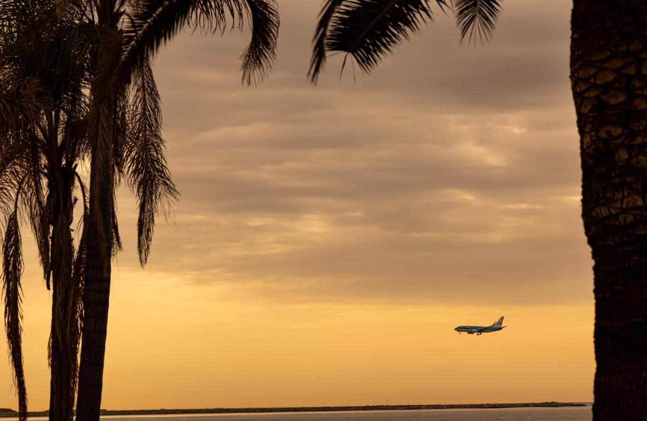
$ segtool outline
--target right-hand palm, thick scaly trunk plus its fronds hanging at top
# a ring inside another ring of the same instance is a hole
[[[461,37],[470,41],[487,39],[501,10],[498,0],[453,6]],[[369,72],[430,17],[428,0],[327,0],[309,74],[316,81],[331,51]],[[645,28],[644,1],[573,0],[571,83],[595,277],[595,421],[647,416]]]

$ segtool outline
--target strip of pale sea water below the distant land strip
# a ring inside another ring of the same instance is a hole
[[[591,421],[591,407],[505,409],[410,409],[208,415],[112,415],[105,421]],[[30,420],[46,420],[34,417]],[[5,418],[17,420],[17,418]]]

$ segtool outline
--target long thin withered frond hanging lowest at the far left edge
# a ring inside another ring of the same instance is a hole
[[[21,310],[22,287],[20,285],[22,275],[23,250],[16,200],[16,208],[6,221],[3,242],[3,292],[5,294],[6,338],[14,370],[14,385],[18,394],[19,420],[25,421],[27,420],[27,389],[22,349],[23,314]]]

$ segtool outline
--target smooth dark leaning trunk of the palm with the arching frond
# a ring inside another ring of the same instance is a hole
[[[116,33],[116,32],[115,32]],[[116,33],[117,34],[117,33]],[[109,41],[106,40],[104,50]],[[119,49],[120,38],[112,44]],[[113,51],[114,52],[114,51]],[[100,55],[97,70],[114,67]],[[97,74],[104,74],[100,71]],[[110,74],[106,77],[109,78]],[[90,210],[87,226],[87,254],[83,287],[83,329],[79,367],[76,420],[98,421],[103,389],[105,338],[108,325],[110,272],[113,248],[113,133],[114,93],[107,89],[109,79],[94,77],[91,87],[91,136],[94,144],[90,174]]]

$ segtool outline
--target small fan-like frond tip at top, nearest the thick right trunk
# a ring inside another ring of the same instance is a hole
[[[454,15],[461,30],[461,41],[481,44],[488,41],[494,32],[496,21],[501,14],[503,0],[455,0]]]

